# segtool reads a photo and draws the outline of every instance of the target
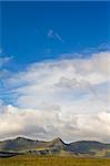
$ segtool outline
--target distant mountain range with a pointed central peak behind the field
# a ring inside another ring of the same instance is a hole
[[[0,142],[1,157],[19,154],[110,157],[110,144],[92,141],[66,144],[59,137],[51,142],[32,141],[24,137]]]

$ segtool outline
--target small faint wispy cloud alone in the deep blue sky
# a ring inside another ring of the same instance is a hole
[[[56,31],[53,31],[52,29],[50,29],[49,31],[48,31],[48,38],[50,38],[50,39],[57,39],[58,41],[60,41],[61,43],[63,43],[64,42],[64,40],[62,39],[62,37],[58,33],[58,32],[56,32]]]

